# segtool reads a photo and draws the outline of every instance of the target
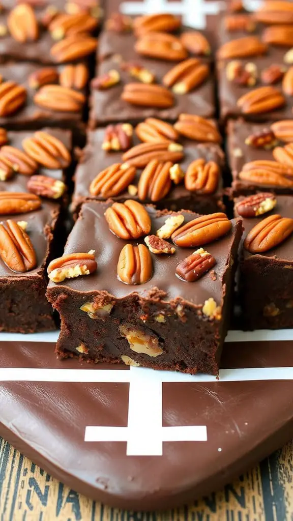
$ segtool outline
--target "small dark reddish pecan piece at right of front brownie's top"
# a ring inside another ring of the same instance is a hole
[[[216,259],[209,252],[200,248],[178,264],[176,275],[186,282],[194,282],[212,269],[215,264]]]

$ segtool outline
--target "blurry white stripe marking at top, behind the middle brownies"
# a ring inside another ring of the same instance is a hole
[[[120,4],[120,11],[125,15],[149,15],[153,13],[171,13],[180,15],[182,22],[189,27],[205,29],[206,15],[217,15],[225,9],[224,0],[178,0],[167,2],[166,0],[144,0],[132,2],[126,0]]]

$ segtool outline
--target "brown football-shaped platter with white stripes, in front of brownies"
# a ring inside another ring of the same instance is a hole
[[[230,331],[217,378],[60,361],[56,333],[0,334],[0,435],[72,489],[155,510],[293,435],[293,331]]]

